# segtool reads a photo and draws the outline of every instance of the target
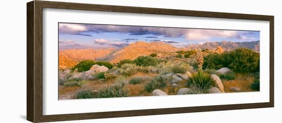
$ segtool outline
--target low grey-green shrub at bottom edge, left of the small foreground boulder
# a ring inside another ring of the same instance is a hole
[[[97,90],[94,93],[95,98],[108,98],[108,97],[126,97],[129,96],[129,90],[123,89],[123,84],[114,84],[106,88]]]

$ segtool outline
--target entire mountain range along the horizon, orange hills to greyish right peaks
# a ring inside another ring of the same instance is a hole
[[[195,48],[216,50],[217,46],[224,51],[231,51],[239,47],[250,48],[259,52],[259,41],[252,42],[205,42],[203,44],[190,44],[184,48],[177,48],[165,42],[137,41],[123,48],[107,49],[69,49],[59,51],[59,67],[72,67],[82,60],[103,60],[118,63],[124,59],[135,59],[139,56],[148,56],[152,53],[171,53],[179,50],[193,50]]]

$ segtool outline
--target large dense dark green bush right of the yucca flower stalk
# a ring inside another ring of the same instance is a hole
[[[228,67],[236,72],[259,71],[259,53],[247,48],[237,48],[222,54],[210,54],[204,59],[204,68]]]

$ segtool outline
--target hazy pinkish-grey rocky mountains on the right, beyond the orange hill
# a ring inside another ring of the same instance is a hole
[[[204,44],[190,44],[185,47],[184,50],[193,50],[195,48],[202,48],[209,50],[216,50],[217,46],[221,46],[224,51],[230,51],[239,47],[250,48],[256,52],[259,52],[259,41],[252,42],[232,42],[232,41],[222,41],[222,42],[205,42]]]

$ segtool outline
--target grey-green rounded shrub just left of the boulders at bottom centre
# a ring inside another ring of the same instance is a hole
[[[162,89],[167,86],[168,79],[164,75],[155,76],[150,82],[145,85],[147,92],[152,92],[155,89]]]

